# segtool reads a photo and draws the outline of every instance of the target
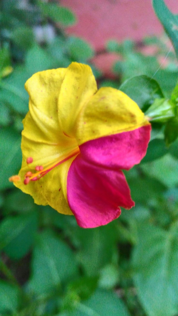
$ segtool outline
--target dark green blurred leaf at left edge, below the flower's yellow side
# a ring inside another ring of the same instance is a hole
[[[36,230],[37,215],[34,212],[7,217],[0,225],[0,249],[12,259],[22,258],[28,253]]]

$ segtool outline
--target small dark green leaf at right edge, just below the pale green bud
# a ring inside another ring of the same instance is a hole
[[[178,116],[167,122],[164,137],[167,145],[170,145],[176,140],[178,137]]]

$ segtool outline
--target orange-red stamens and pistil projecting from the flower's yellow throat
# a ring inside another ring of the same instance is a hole
[[[31,171],[28,171],[25,174],[25,180],[24,180],[24,184],[27,185],[30,181],[36,181],[39,180],[40,178],[44,177],[48,172],[50,172],[52,169],[54,169],[55,167],[59,166],[61,163],[67,161],[68,159],[78,155],[80,153],[80,149],[79,148],[75,148],[74,150],[72,150],[70,153],[68,153],[68,155],[66,156],[61,156],[60,157],[60,161],[55,161],[52,164],[48,165],[48,167],[43,167],[43,166],[36,166],[35,170],[37,172],[32,173]],[[27,158],[27,163],[32,163],[33,162],[33,158],[32,157],[28,157]]]

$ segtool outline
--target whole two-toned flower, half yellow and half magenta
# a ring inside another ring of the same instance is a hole
[[[21,181],[36,204],[76,217],[83,228],[105,225],[134,202],[121,169],[146,154],[150,123],[114,88],[97,90],[88,65],[34,74],[25,84]],[[19,178],[18,178],[19,179]]]

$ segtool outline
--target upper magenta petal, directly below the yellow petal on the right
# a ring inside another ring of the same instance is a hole
[[[107,168],[128,170],[145,156],[151,125],[133,131],[100,137],[80,145],[83,159]]]

